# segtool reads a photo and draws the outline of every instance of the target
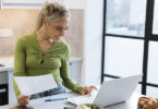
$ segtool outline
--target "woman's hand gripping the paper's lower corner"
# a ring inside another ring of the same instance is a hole
[[[26,105],[28,105],[28,102],[29,102],[29,96],[22,96],[22,95],[20,95],[17,97],[17,104],[20,106],[26,106]]]

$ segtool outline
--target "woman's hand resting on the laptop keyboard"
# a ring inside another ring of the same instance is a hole
[[[93,90],[97,90],[97,88],[96,88],[96,86],[94,86],[94,85],[92,85],[92,86],[85,86],[85,87],[83,87],[82,88],[82,92],[81,92],[81,94],[84,96],[84,95],[89,95],[90,96],[90,94],[92,94],[92,92]]]

